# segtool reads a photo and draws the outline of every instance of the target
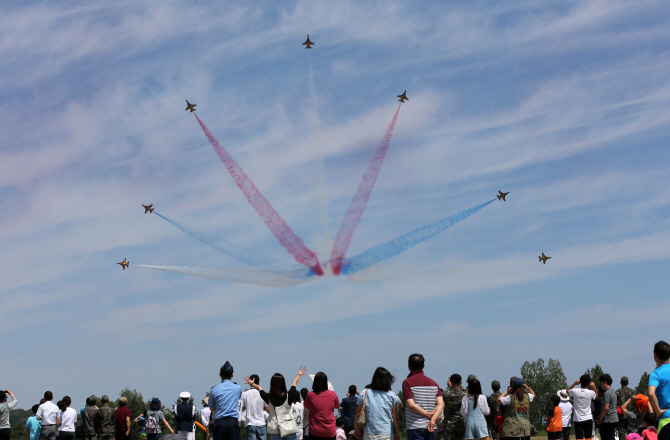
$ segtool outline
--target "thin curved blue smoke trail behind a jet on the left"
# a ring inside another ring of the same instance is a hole
[[[304,273],[298,273],[295,271],[286,271],[285,268],[275,266],[273,264],[274,263],[273,260],[264,255],[258,254],[248,249],[241,248],[225,240],[207,236],[202,232],[193,231],[187,228],[186,226],[182,225],[181,223],[169,219],[164,215],[161,215],[160,213],[158,213],[158,211],[154,211],[154,214],[158,215],[160,218],[170,223],[172,226],[179,229],[180,231],[195,238],[199,242],[206,244],[207,246],[221,253],[231,256],[238,261],[246,263],[249,266],[257,267],[259,269],[263,269],[273,273],[280,273],[283,276],[287,276],[286,273],[289,273],[290,275],[288,276],[292,276],[295,278],[309,277],[312,273],[312,270],[309,268],[305,268],[305,270],[303,271]]]

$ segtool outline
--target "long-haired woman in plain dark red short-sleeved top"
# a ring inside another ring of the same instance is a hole
[[[328,376],[319,371],[314,375],[312,391],[305,399],[305,414],[309,420],[310,440],[335,440],[335,410],[340,407],[340,399],[335,391],[328,389]]]

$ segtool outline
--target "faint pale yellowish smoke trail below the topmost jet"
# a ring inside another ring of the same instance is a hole
[[[316,180],[314,185],[316,200],[319,205],[319,214],[321,220],[321,240],[320,251],[323,255],[330,252],[332,237],[330,235],[330,214],[328,213],[328,188],[326,186],[326,171],[323,160],[323,148],[321,147],[321,127],[319,121],[319,106],[316,100],[316,86],[314,85],[314,71],[312,70],[312,55],[308,53],[309,58],[309,94],[312,98],[312,124],[314,125],[314,151],[316,152]]]

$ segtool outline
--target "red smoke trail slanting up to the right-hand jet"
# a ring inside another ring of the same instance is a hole
[[[340,265],[342,259],[347,253],[347,249],[349,249],[351,239],[354,237],[354,232],[356,231],[358,224],[361,222],[361,217],[363,217],[363,213],[365,212],[365,207],[370,199],[370,193],[372,193],[372,188],[375,186],[379,170],[386,157],[386,151],[388,151],[389,143],[391,143],[393,129],[395,128],[395,123],[398,120],[398,113],[400,112],[400,105],[402,104],[398,105],[398,110],[396,110],[389,128],[386,129],[386,134],[384,134],[382,141],[379,143],[375,155],[372,156],[370,165],[368,165],[368,170],[363,175],[361,184],[358,186],[358,191],[356,191],[354,199],[351,201],[349,209],[347,210],[347,214],[344,216],[344,220],[342,220],[342,226],[340,226],[340,230],[337,231],[337,236],[333,243],[333,250],[330,253],[330,267],[333,270],[334,275],[339,275],[341,272]]]

